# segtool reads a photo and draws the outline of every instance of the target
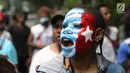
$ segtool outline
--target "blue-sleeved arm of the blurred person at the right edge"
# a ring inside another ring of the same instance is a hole
[[[123,61],[128,60],[128,45],[126,43],[121,43],[117,52],[117,61],[121,64]]]

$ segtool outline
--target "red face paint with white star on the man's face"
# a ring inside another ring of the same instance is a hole
[[[76,40],[76,56],[82,56],[91,49],[94,42],[95,16],[89,12],[82,14],[81,30]]]

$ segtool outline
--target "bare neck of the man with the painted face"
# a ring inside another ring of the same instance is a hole
[[[80,73],[84,73],[87,72],[91,69],[93,69],[93,67],[96,68],[96,52],[95,50],[91,50],[89,51],[89,53],[87,53],[86,56],[78,58],[78,59],[73,59],[72,60],[72,65],[75,69],[75,71],[80,72]]]

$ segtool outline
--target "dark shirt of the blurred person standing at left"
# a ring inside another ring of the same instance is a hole
[[[9,32],[12,36],[12,41],[16,47],[18,56],[28,56],[27,39],[30,29],[27,26],[20,28],[17,25],[12,25],[9,28]]]

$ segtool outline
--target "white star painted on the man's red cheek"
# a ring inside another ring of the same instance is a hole
[[[81,35],[85,36],[85,42],[88,40],[92,41],[93,31],[90,30],[89,26],[86,28],[86,31],[82,32]]]

